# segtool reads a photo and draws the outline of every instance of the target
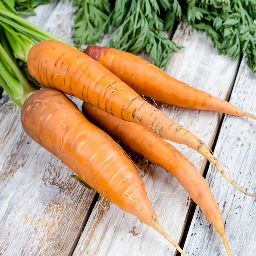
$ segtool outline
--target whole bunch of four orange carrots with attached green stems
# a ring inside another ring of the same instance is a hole
[[[158,94],[148,95],[147,92],[157,91],[158,93],[160,89],[157,84],[167,84],[166,81],[170,78],[165,76],[164,81],[160,80],[160,77],[164,75],[155,66],[149,63],[145,64],[133,56],[132,59],[137,63],[135,69],[139,70],[139,73],[128,72],[129,61],[128,63],[123,61],[122,65],[119,65],[118,61],[109,60],[109,58],[114,58],[114,56],[108,56],[108,52],[113,51],[112,49],[102,48],[101,51],[101,48],[88,48],[86,53],[92,56],[90,57],[65,42],[60,42],[54,37],[51,38],[48,34],[43,37],[42,34],[35,33],[37,36],[35,38],[33,33],[26,34],[25,31],[22,31],[24,26],[29,27],[31,31],[35,29],[28,22],[20,17],[16,18],[15,14],[2,8],[1,5],[0,14],[5,15],[7,21],[16,19],[16,25],[22,24],[20,33],[24,33],[22,36],[30,40],[31,44],[25,47],[26,54],[20,56],[23,56],[23,61],[27,63],[29,74],[44,87],[44,89],[37,90],[24,79],[11,56],[10,49],[15,47],[5,40],[4,46],[0,47],[0,50],[3,49],[0,52],[2,56],[0,60],[6,67],[6,72],[2,75],[3,79],[0,82],[4,84],[4,90],[13,101],[22,107],[21,121],[25,132],[38,144],[61,159],[90,187],[124,211],[137,216],[146,225],[156,229],[182,255],[185,255],[180,246],[166,234],[159,224],[147,198],[143,181],[124,150],[109,135],[90,123],[65,94],[81,99],[84,101],[84,113],[86,111],[88,115],[95,118],[99,116],[97,122],[101,128],[104,127],[113,137],[117,136],[115,139],[122,140],[132,150],[165,168],[181,182],[216,228],[223,240],[227,254],[231,255],[220,210],[208,185],[195,166],[164,139],[193,148],[214,164],[217,170],[241,192],[253,197],[256,195],[243,190],[231,180],[220,167],[218,159],[213,156],[209,147],[202,140],[139,95],[144,94],[167,102],[163,96],[157,98]],[[7,22],[2,28],[9,38],[12,36],[10,31],[14,29],[11,25],[12,22]],[[120,52],[120,54],[124,53]],[[128,55],[124,59],[130,57]],[[104,67],[98,61],[103,65],[106,62],[108,65]],[[139,65],[139,63],[141,64]],[[113,68],[114,66],[115,68]],[[146,66],[145,70],[144,66]],[[128,67],[127,70],[126,67]],[[155,76],[143,80],[143,77],[150,73]],[[11,74],[16,74],[18,82],[15,85],[9,79]],[[147,87],[148,80],[152,81],[149,87]],[[157,83],[154,82],[155,80]],[[170,80],[173,83],[168,92],[162,92],[161,95],[167,94],[167,98],[171,99],[168,101],[170,104],[174,104],[177,99],[177,102],[185,101],[187,104],[182,103],[177,106],[191,108],[189,93],[178,95],[171,87],[181,84],[181,86],[185,86],[182,88],[186,88],[187,91],[193,91],[193,89],[188,89],[187,85],[175,79]],[[143,90],[136,89],[137,92],[135,92],[135,84],[136,88],[142,85]],[[207,97],[212,98],[209,94]],[[194,97],[193,107],[199,108],[206,105],[204,104],[205,99],[201,102],[198,96]],[[212,106],[213,102],[211,101],[209,106]],[[221,106],[214,110],[245,115],[238,109],[232,112],[231,106],[227,103],[222,103],[222,101],[219,103]],[[224,110],[222,105],[227,105],[229,110]],[[249,117],[255,118],[253,115]],[[135,141],[137,141],[137,145]],[[161,150],[154,149],[156,146]]]

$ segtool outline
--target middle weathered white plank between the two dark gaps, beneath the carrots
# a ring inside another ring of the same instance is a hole
[[[167,70],[168,74],[226,99],[234,81],[238,62],[232,62],[226,56],[218,55],[210,40],[207,40],[204,34],[198,34],[193,29],[187,28],[186,22],[180,24],[173,40],[184,45],[185,48],[173,54]],[[161,108],[160,103],[159,108]],[[167,105],[164,105],[164,112],[193,130],[207,144],[212,144],[220,120],[218,113],[184,110]],[[186,146],[178,146],[178,148],[201,172],[203,171],[206,164],[203,157]],[[171,175],[161,168],[140,157],[133,159],[148,180],[144,179],[146,190],[160,222],[168,234],[179,241],[190,206],[188,194]],[[166,194],[173,192],[176,193]],[[217,235],[215,246],[219,251]],[[116,254],[123,256],[175,255],[175,250],[156,231],[100,197],[81,235],[74,256]]]

